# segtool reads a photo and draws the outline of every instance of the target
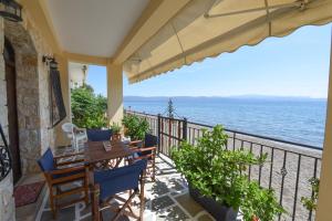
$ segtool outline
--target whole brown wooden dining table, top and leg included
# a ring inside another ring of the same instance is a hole
[[[95,192],[96,190],[93,173],[96,165],[100,162],[102,162],[103,165],[103,162],[108,162],[110,160],[117,159],[116,165],[114,167],[118,167],[122,159],[133,154],[128,146],[122,141],[111,141],[111,145],[112,149],[110,151],[106,151],[103,141],[89,141],[84,149],[84,160],[89,165],[90,170],[89,182],[91,186],[93,220],[100,220],[100,213],[97,209],[98,192]],[[107,164],[103,166],[107,167]]]

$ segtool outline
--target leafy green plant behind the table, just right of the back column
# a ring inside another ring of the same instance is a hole
[[[125,127],[125,136],[131,137],[133,140],[144,139],[145,134],[149,131],[147,120],[136,115],[125,115],[122,124]]]

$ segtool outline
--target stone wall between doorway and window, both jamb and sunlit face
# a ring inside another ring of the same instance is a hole
[[[28,15],[25,15],[28,21]],[[4,35],[15,52],[19,139],[23,175],[39,171],[37,159],[53,145],[50,129],[49,72],[42,56],[52,54],[38,29],[4,21]]]

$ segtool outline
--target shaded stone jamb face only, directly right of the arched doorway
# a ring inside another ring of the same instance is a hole
[[[4,21],[4,35],[15,54],[19,145],[22,173],[25,175],[37,171],[35,159],[41,152],[38,55],[21,24]]]

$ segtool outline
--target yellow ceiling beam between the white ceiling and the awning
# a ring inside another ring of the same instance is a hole
[[[114,63],[122,64],[125,62],[189,1],[190,0],[151,0],[115,53]]]

